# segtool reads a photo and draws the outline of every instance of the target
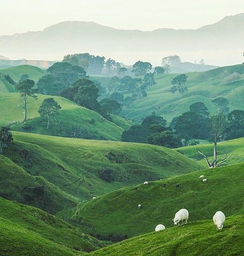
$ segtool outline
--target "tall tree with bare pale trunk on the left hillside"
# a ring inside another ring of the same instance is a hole
[[[34,87],[34,81],[30,80],[30,79],[25,79],[16,85],[16,90],[20,91],[21,103],[22,103],[22,107],[24,108],[23,122],[25,122],[27,119],[27,99],[28,99],[28,97],[37,99],[37,96],[34,94],[35,91],[33,90],[33,87]]]

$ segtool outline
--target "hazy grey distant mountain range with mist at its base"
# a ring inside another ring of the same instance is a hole
[[[62,59],[66,54],[89,52],[126,64],[138,59],[159,64],[161,57],[177,54],[191,61],[204,58],[213,65],[231,65],[243,62],[243,31],[244,13],[198,29],[121,30],[65,21],[43,31],[1,36],[0,49],[11,59]]]

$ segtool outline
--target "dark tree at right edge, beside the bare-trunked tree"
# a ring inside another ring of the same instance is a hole
[[[227,118],[230,124],[227,139],[244,137],[244,111],[235,109],[228,114]]]

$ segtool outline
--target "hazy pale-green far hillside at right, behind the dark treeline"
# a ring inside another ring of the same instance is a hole
[[[241,81],[231,84],[224,84],[224,79],[233,72],[238,72]],[[142,118],[155,111],[156,115],[163,116],[167,121],[171,121],[184,111],[189,110],[189,106],[201,101],[206,104],[211,113],[216,111],[216,106],[211,101],[216,97],[225,97],[230,102],[230,110],[244,110],[244,65],[222,67],[205,72],[187,73],[188,91],[182,95],[178,92],[170,92],[172,78],[177,74],[156,74],[154,76],[156,85],[147,89],[148,97],[136,100],[131,106],[124,107],[121,115],[141,121]],[[108,77],[96,77],[101,85],[108,87],[110,79]],[[125,97],[131,95],[126,92]]]

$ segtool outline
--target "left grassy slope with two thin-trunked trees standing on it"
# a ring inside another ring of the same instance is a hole
[[[123,133],[123,127],[129,127],[131,122],[113,116],[115,123],[104,119],[95,111],[80,107],[72,101],[57,96],[41,95],[37,94],[38,99],[28,99],[27,117],[32,120],[27,121],[26,124],[19,123],[12,125],[12,130],[26,131],[26,125],[31,126],[31,130],[27,130],[31,133],[54,135],[54,136],[67,136],[67,133],[71,130],[71,127],[81,127],[83,136],[90,136],[94,139],[108,139],[119,140]],[[46,130],[46,124],[40,118],[38,109],[42,102],[46,98],[54,98],[62,107],[60,115],[56,117],[56,121],[53,120],[50,125],[50,129]],[[19,105],[20,94],[19,93],[1,93],[0,92],[0,126],[8,123],[20,122],[23,120],[23,108]]]

